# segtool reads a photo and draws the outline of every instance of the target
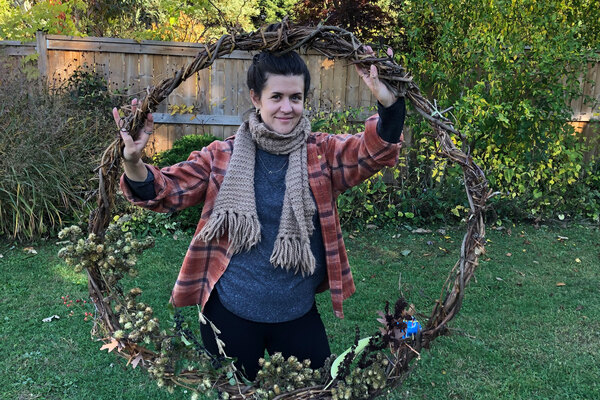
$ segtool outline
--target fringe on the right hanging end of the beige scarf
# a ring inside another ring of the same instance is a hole
[[[275,239],[271,264],[284,268],[287,271],[302,272],[302,276],[312,275],[315,272],[315,256],[310,249],[310,242],[300,242],[298,238],[290,236]]]

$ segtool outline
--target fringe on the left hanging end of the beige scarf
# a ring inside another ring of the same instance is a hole
[[[211,215],[195,240],[208,243],[228,232],[229,248],[232,254],[249,250],[260,241],[260,222],[255,215],[223,211]]]

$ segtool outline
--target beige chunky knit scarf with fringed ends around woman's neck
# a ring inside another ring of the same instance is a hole
[[[267,128],[256,114],[238,129],[233,154],[225,178],[206,225],[196,236],[208,242],[228,233],[232,254],[249,250],[260,241],[260,222],[254,193],[254,160],[256,146],[273,154],[289,154],[285,175],[285,195],[279,231],[271,254],[275,267],[294,273],[312,275],[315,257],[310,249],[312,222],[316,211],[308,185],[306,139],[310,122],[300,118],[294,130],[286,135]]]

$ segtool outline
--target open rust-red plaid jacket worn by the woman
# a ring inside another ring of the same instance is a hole
[[[342,302],[356,290],[336,207],[344,190],[358,185],[385,166],[398,160],[400,144],[383,141],[377,134],[377,116],[365,122],[365,132],[356,135],[312,133],[307,139],[308,178],[315,197],[327,264],[327,278],[319,291],[329,289],[333,310],[343,318]],[[121,189],[134,204],[157,212],[170,212],[204,203],[198,233],[212,213],[233,151],[233,137],[216,141],[190,154],[187,161],[161,170],[148,165],[154,174],[156,197],[136,199],[121,177]],[[229,264],[227,237],[209,243],[192,241],[171,302],[177,306],[200,304],[204,307],[215,283]]]

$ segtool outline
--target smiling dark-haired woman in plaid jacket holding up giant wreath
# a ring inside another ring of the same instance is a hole
[[[330,350],[315,293],[329,288],[343,318],[342,301],[355,290],[336,197],[395,164],[405,114],[404,99],[379,81],[375,66],[357,72],[380,115],[361,134],[310,131],[303,116],[310,74],[294,52],[256,55],[247,79],[256,112],[234,137],[183,163],[162,170],[142,163],[152,115],[136,141],[121,131],[128,200],[158,212],[204,203],[171,301],[200,304],[250,380],[265,350],[321,367]],[[116,109],[113,115],[119,126]],[[201,331],[207,349],[218,353],[212,330]]]

